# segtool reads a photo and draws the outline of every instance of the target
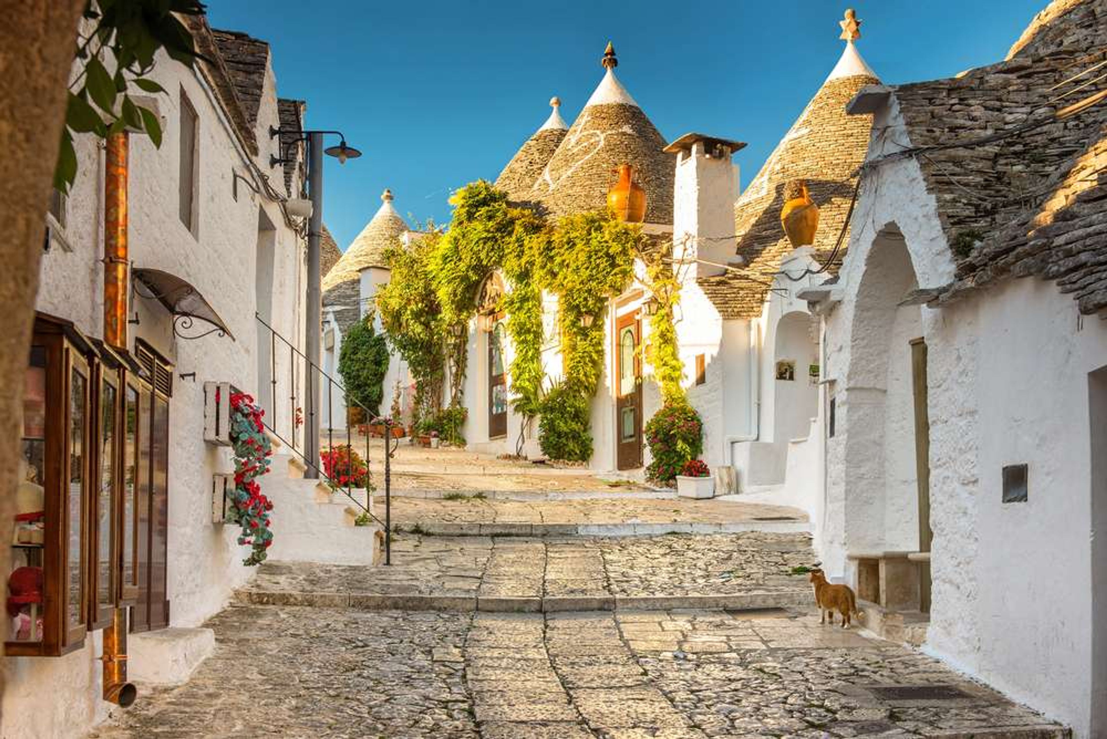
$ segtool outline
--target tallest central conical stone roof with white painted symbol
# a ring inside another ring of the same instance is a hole
[[[541,202],[555,216],[606,208],[614,169],[629,164],[645,189],[646,222],[672,223],[676,157],[662,150],[664,138],[615,77],[618,62],[610,43],[602,64],[607,67],[603,80],[528,199]]]

